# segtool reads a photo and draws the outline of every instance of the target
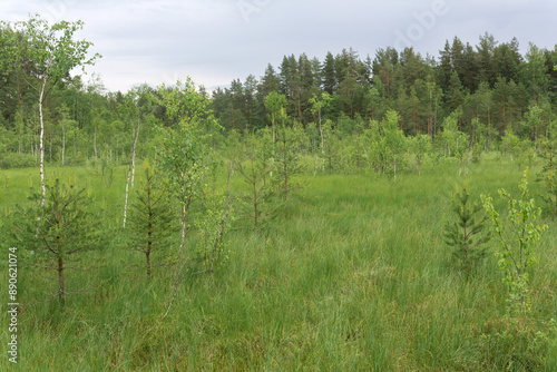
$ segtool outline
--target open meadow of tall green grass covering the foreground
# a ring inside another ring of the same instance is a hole
[[[0,370],[495,370],[497,347],[489,349],[482,335],[500,326],[506,312],[507,291],[494,256],[498,242],[489,243],[488,257],[467,280],[451,266],[443,224],[452,218],[450,193],[463,179],[478,203],[480,194],[491,194],[504,213],[497,189],[518,197],[516,164],[487,158],[467,176],[459,176],[458,165],[430,164],[421,176],[401,174],[395,180],[363,173],[300,176],[307,186],[273,221],[255,231],[237,217],[225,237],[229,260],[214,274],[187,278],[165,319],[172,268],[155,266],[148,280],[144,257],[125,247],[118,227],[126,170],[117,168],[108,185],[92,168],[47,168],[47,178],[87,187],[95,205],[106,209],[108,243],[68,271],[68,291],[75,293],[63,309],[55,273],[20,258],[19,363],[9,363],[4,352]],[[529,177],[534,197],[541,192],[536,172]],[[29,187],[39,185],[38,175],[0,170],[2,224]],[[236,192],[244,186],[236,180]],[[555,221],[543,222],[549,228],[530,273],[540,330],[557,319],[557,229]],[[6,263],[7,249],[2,243]],[[0,271],[7,287],[7,264]],[[6,311],[2,319],[6,345]],[[540,355],[537,369],[557,370],[555,340]]]

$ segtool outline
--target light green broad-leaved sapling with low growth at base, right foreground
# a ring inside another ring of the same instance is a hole
[[[482,195],[483,207],[494,223],[499,239],[499,268],[508,287],[507,317],[486,324],[480,340],[481,360],[491,368],[505,371],[540,370],[545,364],[551,340],[557,336],[555,322],[549,327],[531,319],[529,271],[536,263],[534,247],[547,225],[536,225],[541,209],[529,197],[528,169],[518,185],[520,198],[514,199],[504,188],[507,200],[506,222],[501,221],[490,196]],[[541,326],[540,326],[541,325]]]

